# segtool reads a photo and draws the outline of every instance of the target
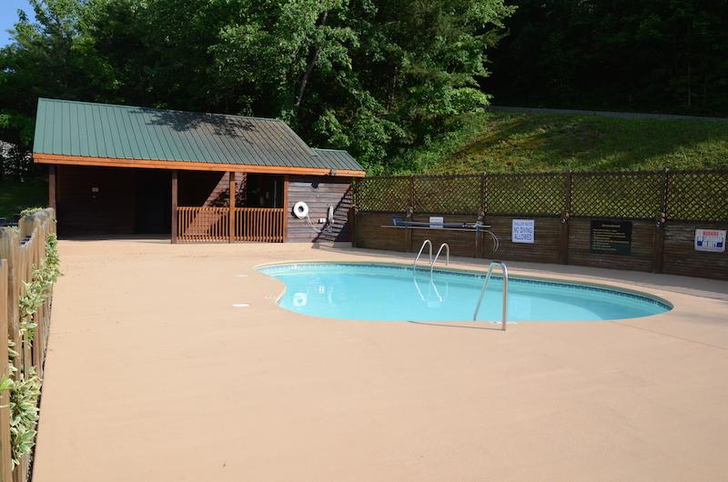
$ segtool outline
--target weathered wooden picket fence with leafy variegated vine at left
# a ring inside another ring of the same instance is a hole
[[[52,296],[35,313],[35,337],[23,339],[20,333],[18,302],[23,295],[24,283],[31,280],[35,267],[45,259],[45,242],[56,232],[56,213],[45,209],[33,216],[25,216],[18,223],[18,232],[0,228],[0,372],[10,376],[8,366],[8,340],[15,343],[15,367],[20,374],[30,375],[35,369],[43,379],[45,349],[51,315]],[[10,394],[0,392],[0,482],[25,482],[29,477],[30,458],[25,456],[15,467],[11,462]]]

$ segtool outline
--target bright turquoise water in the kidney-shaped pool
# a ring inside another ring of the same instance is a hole
[[[470,321],[483,276],[465,271],[377,265],[306,263],[259,268],[286,284],[278,306],[310,316],[359,320]],[[502,279],[492,277],[479,320],[500,321]],[[510,321],[608,320],[671,309],[648,296],[511,276]]]

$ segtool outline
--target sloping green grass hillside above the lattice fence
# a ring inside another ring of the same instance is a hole
[[[484,113],[392,165],[398,173],[728,166],[728,121]]]

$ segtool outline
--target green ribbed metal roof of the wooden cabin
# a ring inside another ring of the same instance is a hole
[[[311,149],[283,121],[38,99],[35,154],[363,171],[345,151]]]

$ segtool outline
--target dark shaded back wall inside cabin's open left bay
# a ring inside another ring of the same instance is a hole
[[[56,199],[60,236],[134,233],[133,169],[58,166]]]

